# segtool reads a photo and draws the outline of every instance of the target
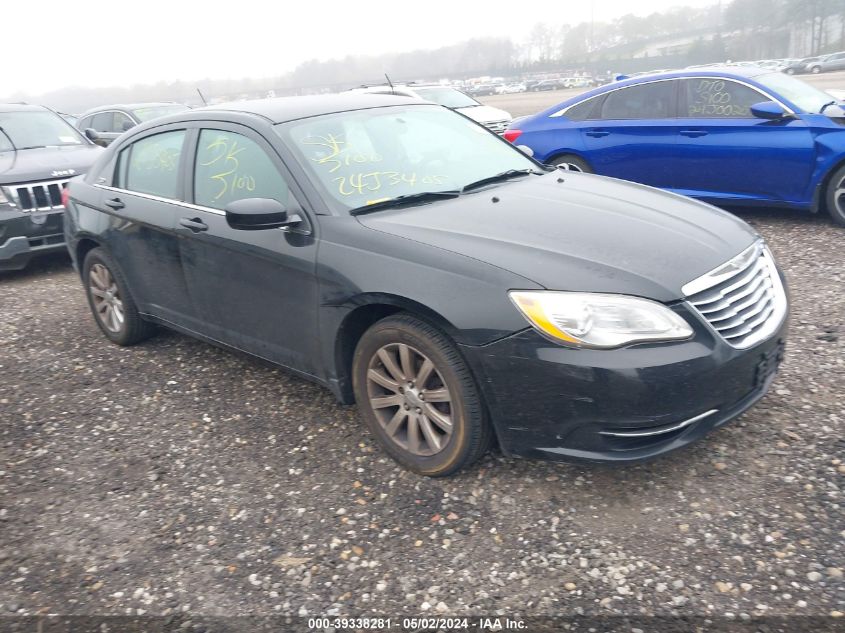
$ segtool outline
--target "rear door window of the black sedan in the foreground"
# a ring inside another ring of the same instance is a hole
[[[120,152],[117,186],[162,198],[179,193],[179,159],[185,131],[147,136]]]

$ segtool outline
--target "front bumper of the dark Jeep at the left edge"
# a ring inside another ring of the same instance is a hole
[[[33,256],[65,250],[64,211],[22,213],[0,206],[0,271],[20,270]]]

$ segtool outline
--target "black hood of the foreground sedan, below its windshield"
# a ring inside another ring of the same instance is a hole
[[[659,301],[680,299],[684,284],[757,239],[745,222],[710,205],[612,178],[561,172],[359,220],[545,288]]]

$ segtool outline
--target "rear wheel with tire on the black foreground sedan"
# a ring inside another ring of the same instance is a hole
[[[85,256],[82,284],[94,321],[112,343],[135,345],[155,334],[155,325],[138,314],[126,278],[104,249],[94,248]]]

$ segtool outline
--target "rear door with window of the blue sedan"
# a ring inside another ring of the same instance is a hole
[[[581,122],[585,156],[597,174],[670,187],[678,136],[677,80],[658,80],[608,92]]]

